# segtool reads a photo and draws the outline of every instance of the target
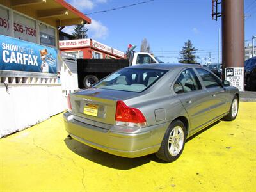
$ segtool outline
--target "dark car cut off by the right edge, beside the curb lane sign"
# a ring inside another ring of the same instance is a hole
[[[247,90],[256,89],[256,57],[244,61],[244,82]]]

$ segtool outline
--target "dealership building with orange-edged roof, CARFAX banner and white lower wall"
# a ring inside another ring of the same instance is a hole
[[[90,23],[63,0],[0,0],[0,138],[67,109],[74,76],[58,29]]]

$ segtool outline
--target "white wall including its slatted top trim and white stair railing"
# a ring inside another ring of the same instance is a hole
[[[56,74],[0,70],[0,138],[67,109],[68,93],[78,89],[76,61],[63,61],[58,54],[58,72],[60,83]]]

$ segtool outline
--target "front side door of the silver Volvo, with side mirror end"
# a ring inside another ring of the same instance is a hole
[[[210,94],[208,99],[209,108],[209,120],[219,118],[229,110],[228,100],[230,100],[230,94],[222,86],[221,80],[216,77],[212,72],[205,70],[204,68],[196,68],[200,81],[202,82],[205,90]]]

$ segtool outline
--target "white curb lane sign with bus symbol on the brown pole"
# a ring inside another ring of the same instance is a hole
[[[225,79],[230,82],[231,86],[235,86],[240,92],[244,92],[244,68],[228,67],[225,68]]]

